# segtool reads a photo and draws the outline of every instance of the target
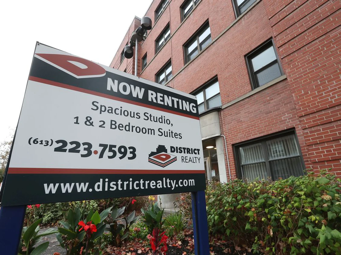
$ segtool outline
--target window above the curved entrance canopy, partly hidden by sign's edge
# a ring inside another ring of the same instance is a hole
[[[216,106],[221,106],[219,83],[217,79],[208,83],[208,87],[195,95],[199,114]]]

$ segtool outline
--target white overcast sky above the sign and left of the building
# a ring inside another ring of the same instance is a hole
[[[109,66],[134,17],[142,18],[151,2],[1,1],[0,142],[16,128],[36,41]]]

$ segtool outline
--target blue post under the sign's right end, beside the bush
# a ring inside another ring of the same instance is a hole
[[[210,254],[205,190],[192,192],[192,214],[195,255]]]

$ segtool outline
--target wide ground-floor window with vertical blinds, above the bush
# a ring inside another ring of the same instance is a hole
[[[277,180],[303,174],[302,156],[294,132],[271,136],[235,147],[239,177]]]

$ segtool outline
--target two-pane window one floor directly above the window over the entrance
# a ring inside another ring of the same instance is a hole
[[[184,45],[185,62],[191,61],[211,42],[211,30],[208,22]]]

